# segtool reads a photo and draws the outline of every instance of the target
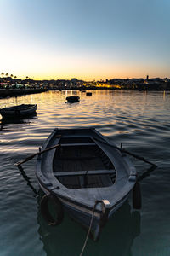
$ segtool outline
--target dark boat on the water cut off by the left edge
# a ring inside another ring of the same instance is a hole
[[[33,104],[22,104],[18,106],[13,106],[9,108],[0,109],[0,113],[4,118],[15,118],[15,117],[24,117],[31,115],[36,112],[37,105]]]

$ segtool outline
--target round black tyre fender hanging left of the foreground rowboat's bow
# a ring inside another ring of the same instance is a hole
[[[48,201],[51,201],[54,208],[57,210],[56,217],[54,218],[48,209]],[[61,202],[57,197],[53,195],[44,195],[42,197],[42,201],[40,203],[40,209],[42,213],[42,217],[47,221],[48,225],[56,226],[61,224],[64,218],[64,211]]]

